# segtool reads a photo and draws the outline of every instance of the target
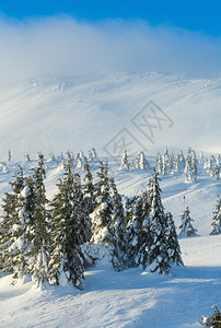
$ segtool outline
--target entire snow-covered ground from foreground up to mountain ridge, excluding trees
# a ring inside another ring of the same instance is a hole
[[[158,151],[167,145],[175,159],[182,149],[186,156],[190,145],[197,151],[197,180],[186,181],[183,167],[161,174],[160,186],[177,232],[186,206],[198,232],[178,238],[185,267],[173,268],[168,276],[140,267],[116,272],[103,259],[85,271],[83,291],[61,285],[40,291],[28,279],[12,286],[12,276],[0,271],[0,327],[203,327],[200,317],[212,314],[211,305],[221,309],[221,235],[210,235],[221,184],[199,157],[203,150],[207,160],[211,153],[217,160],[221,150],[220,90],[220,80],[125,72],[40,78],[1,90],[0,204],[18,165],[28,176],[37,165],[38,151],[45,155],[44,183],[51,200],[65,173],[61,151],[63,155],[68,149],[73,152],[73,171],[84,175],[77,167],[77,152],[82,149],[88,155],[95,147],[97,157],[90,160],[94,177],[98,160],[108,155],[118,191],[132,197],[148,187]],[[151,118],[154,115],[158,119]],[[120,141],[126,143],[130,163],[143,148],[151,167],[119,169]],[[24,161],[26,154],[31,161]]]

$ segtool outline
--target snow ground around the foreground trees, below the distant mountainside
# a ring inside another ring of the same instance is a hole
[[[153,166],[155,157],[148,156],[148,161]],[[118,163],[109,163],[119,191],[138,195],[147,187],[150,169],[124,172],[118,169],[119,163],[120,159]],[[13,162],[12,157],[8,173],[0,169],[0,196],[9,190],[8,181],[12,180],[18,164],[27,174],[37,161]],[[45,185],[51,198],[63,168],[47,156],[46,165]],[[97,160],[91,162],[91,167],[95,173]],[[53,285],[40,291],[31,281],[12,286],[11,276],[0,272],[3,276],[0,278],[0,327],[201,327],[201,316],[213,313],[211,305],[221,308],[221,236],[209,235],[221,185],[202,165],[198,183],[186,184],[184,174],[161,178],[163,203],[173,213],[176,226],[181,224],[186,196],[198,230],[196,237],[179,238],[184,268],[173,268],[173,274],[166,277],[143,272],[141,268],[115,272],[104,260],[85,272],[84,291]]]

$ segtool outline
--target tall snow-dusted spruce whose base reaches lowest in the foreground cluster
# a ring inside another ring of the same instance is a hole
[[[65,169],[65,178],[59,179],[57,184],[59,191],[50,202],[53,242],[49,276],[51,283],[71,283],[82,289],[83,262],[80,253],[80,246],[84,242],[82,239],[84,236],[81,235],[84,226],[81,226],[80,215],[83,210],[80,208],[82,195],[79,190],[79,177],[74,177],[70,165],[66,165]]]

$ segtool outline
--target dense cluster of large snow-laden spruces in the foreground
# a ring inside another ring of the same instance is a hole
[[[153,172],[140,196],[123,197],[100,162],[96,181],[84,157],[83,179],[71,157],[57,181],[57,194],[46,197],[44,156],[30,176],[22,166],[3,197],[0,223],[0,266],[13,281],[31,274],[34,283],[71,283],[82,289],[85,268],[95,260],[90,248],[102,245],[115,270],[142,266],[170,273],[183,266],[173,216],[161,200],[159,173]],[[188,231],[188,229],[186,229]],[[85,247],[86,245],[86,247]]]

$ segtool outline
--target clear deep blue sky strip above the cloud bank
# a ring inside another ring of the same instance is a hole
[[[210,35],[221,35],[220,0],[1,0],[4,19],[67,14],[94,22],[106,19],[141,19]]]

